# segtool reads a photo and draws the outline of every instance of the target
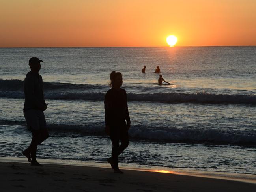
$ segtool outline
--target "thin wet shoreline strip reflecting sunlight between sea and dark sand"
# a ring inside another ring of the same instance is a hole
[[[47,164],[47,165],[82,166],[82,167],[110,169],[110,165],[107,162],[106,163],[84,162],[84,161],[78,161],[78,160],[42,159],[42,158],[37,158],[37,159],[40,163]],[[23,157],[2,157],[2,156],[0,156],[0,163],[1,162],[22,163],[22,164],[30,165],[25,157],[23,158]],[[189,176],[189,177],[201,177],[201,178],[208,178],[208,179],[221,179],[221,180],[238,181],[238,182],[256,184],[256,175],[254,175],[254,174],[181,170],[181,169],[170,169],[170,168],[153,167],[153,166],[138,167],[138,166],[123,164],[123,163],[120,163],[120,169],[121,170],[130,170],[130,171],[143,171],[143,172],[155,172],[155,173],[164,173],[164,174],[183,175],[183,176]]]

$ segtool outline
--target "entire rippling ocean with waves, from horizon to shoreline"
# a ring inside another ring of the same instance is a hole
[[[23,157],[31,141],[22,109],[32,56],[49,103],[38,158],[106,162],[103,100],[120,71],[131,117],[121,166],[256,175],[256,47],[0,48],[2,157]],[[157,84],[157,66],[170,85]]]

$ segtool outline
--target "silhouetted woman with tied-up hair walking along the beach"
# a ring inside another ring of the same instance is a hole
[[[127,95],[120,87],[123,84],[123,77],[120,72],[112,71],[110,74],[111,89],[105,95],[105,124],[106,133],[110,135],[112,142],[112,156],[108,158],[114,173],[123,173],[118,168],[118,155],[129,145],[128,129],[131,121],[127,106]],[[127,125],[125,122],[127,121]],[[119,141],[121,145],[119,145]]]

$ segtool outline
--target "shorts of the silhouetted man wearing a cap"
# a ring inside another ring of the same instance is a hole
[[[47,129],[45,114],[42,111],[30,109],[23,113],[28,125],[28,130],[30,130],[30,128],[34,130]]]

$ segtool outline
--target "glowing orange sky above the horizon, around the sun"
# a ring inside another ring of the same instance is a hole
[[[0,47],[256,45],[256,0],[0,0]]]

